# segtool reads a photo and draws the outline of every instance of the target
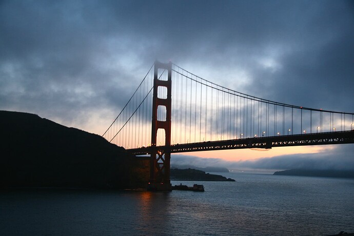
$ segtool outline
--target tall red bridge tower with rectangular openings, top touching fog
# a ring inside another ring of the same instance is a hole
[[[159,79],[159,69],[167,70],[167,81]],[[171,191],[170,182],[170,158],[171,152],[171,80],[172,63],[154,64],[154,81],[153,81],[153,99],[152,99],[152,128],[151,128],[151,164],[150,164],[150,183],[148,190],[168,190]],[[158,88],[167,88],[167,97],[159,97]],[[166,120],[158,120],[158,107],[166,109]],[[165,130],[165,146],[160,148],[156,146],[158,129]]]

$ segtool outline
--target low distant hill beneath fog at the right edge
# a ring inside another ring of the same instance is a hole
[[[291,169],[291,170],[276,171],[273,174],[274,175],[332,177],[332,178],[354,178],[354,170]]]

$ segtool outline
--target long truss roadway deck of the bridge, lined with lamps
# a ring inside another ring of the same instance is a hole
[[[325,133],[294,134],[268,137],[251,137],[246,139],[208,141],[202,143],[175,144],[158,147],[141,147],[127,149],[134,155],[150,154],[153,148],[171,153],[212,151],[241,148],[272,148],[288,146],[325,145],[325,144],[352,144],[354,143],[354,130]]]

